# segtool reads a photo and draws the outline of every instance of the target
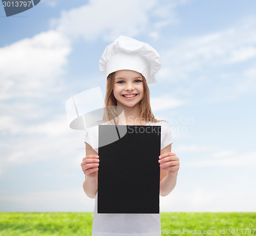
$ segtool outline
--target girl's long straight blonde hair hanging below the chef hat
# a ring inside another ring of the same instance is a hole
[[[139,102],[139,110],[138,113],[140,114],[140,124],[141,121],[144,120],[146,123],[149,121],[153,123],[157,123],[164,120],[157,120],[151,110],[150,106],[150,89],[147,86],[146,79],[143,75],[142,82],[143,82],[143,98]],[[106,96],[105,96],[105,112],[104,112],[104,120],[114,122],[118,121],[116,118],[118,116],[118,108],[117,101],[114,96],[114,79],[115,79],[115,72],[111,73],[108,78],[106,79]],[[166,121],[165,121],[166,122]]]

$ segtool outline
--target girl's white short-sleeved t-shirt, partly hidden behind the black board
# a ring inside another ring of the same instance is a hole
[[[108,125],[104,123],[102,125]],[[173,143],[170,128],[166,122],[147,125],[161,126],[161,150]],[[99,126],[87,129],[85,142],[98,153],[98,130]],[[161,235],[161,219],[158,214],[98,214],[97,198],[95,197],[92,236],[159,236]]]

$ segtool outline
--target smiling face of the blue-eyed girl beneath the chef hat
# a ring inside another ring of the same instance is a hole
[[[135,106],[143,98],[141,74],[134,70],[118,70],[115,72],[113,92],[117,106]]]

